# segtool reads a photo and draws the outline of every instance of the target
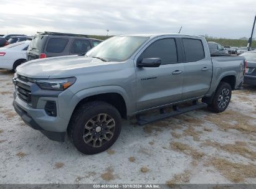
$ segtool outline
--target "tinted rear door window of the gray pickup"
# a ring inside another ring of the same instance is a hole
[[[183,39],[187,62],[195,62],[204,58],[204,47],[199,39]]]

